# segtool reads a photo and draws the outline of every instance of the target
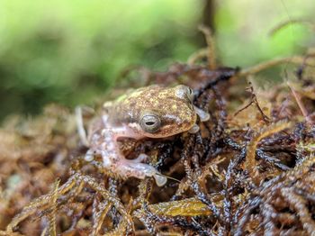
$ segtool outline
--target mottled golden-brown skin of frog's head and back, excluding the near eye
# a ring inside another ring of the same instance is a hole
[[[165,88],[148,86],[123,95],[112,104],[106,104],[108,122],[112,126],[128,125],[134,132],[150,138],[163,138],[188,131],[196,122],[196,113],[187,86]],[[139,121],[144,113],[155,113],[161,128],[154,133],[141,130]]]

